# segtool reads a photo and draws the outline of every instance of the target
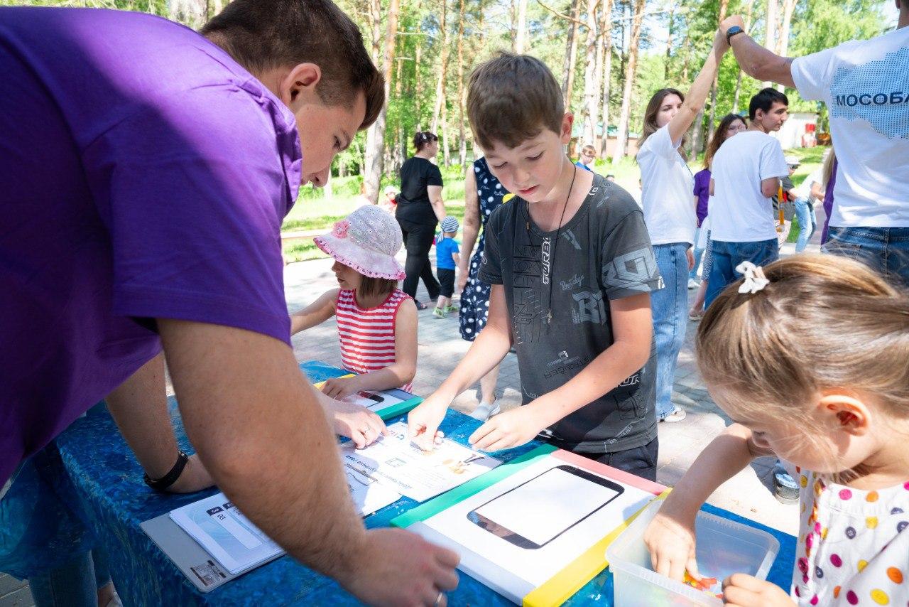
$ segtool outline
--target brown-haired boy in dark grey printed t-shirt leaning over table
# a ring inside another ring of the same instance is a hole
[[[470,437],[475,448],[539,437],[655,480],[650,292],[662,280],[640,207],[565,156],[573,116],[539,60],[502,54],[478,67],[467,109],[489,167],[515,197],[485,228],[486,326],[411,412],[411,437],[431,449],[454,397],[514,342],[524,406],[486,421]]]

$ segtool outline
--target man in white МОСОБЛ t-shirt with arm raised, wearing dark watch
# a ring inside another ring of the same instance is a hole
[[[862,258],[909,284],[909,0],[895,0],[897,28],[798,58],[777,56],[724,20],[749,76],[823,100],[838,167],[825,250]]]

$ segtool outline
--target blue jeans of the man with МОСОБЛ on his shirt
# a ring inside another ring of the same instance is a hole
[[[830,228],[824,252],[863,261],[909,287],[909,228]]]

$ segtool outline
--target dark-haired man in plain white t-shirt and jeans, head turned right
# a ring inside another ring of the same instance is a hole
[[[707,281],[707,307],[741,276],[743,261],[763,266],[779,257],[771,197],[788,175],[783,148],[768,133],[786,121],[789,99],[773,88],[751,98],[751,126],[726,139],[716,151],[710,179],[710,242],[713,266]]]

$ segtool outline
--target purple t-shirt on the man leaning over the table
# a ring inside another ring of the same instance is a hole
[[[289,342],[294,115],[182,25],[0,8],[0,485],[160,351],[155,318]]]

